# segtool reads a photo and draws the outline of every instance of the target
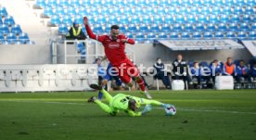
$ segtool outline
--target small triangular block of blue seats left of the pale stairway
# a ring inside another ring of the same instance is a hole
[[[8,15],[6,7],[0,6],[0,45],[32,45],[27,33]],[[25,38],[24,38],[24,34]]]

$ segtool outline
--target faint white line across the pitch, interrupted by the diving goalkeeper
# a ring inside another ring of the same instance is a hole
[[[44,104],[62,104],[62,105],[79,105],[79,106],[85,106],[90,104],[83,104],[83,103],[72,103],[72,102],[44,102],[44,101],[28,101],[28,100],[6,100],[10,102],[25,102],[25,103],[44,103]],[[162,109],[162,108],[157,108]],[[240,111],[228,111],[228,110],[220,110],[220,109],[201,109],[201,108],[177,108],[177,110],[182,111],[198,111],[198,112],[221,112],[221,113],[230,113],[230,114],[250,114],[250,115],[256,115],[256,112],[240,112]]]

